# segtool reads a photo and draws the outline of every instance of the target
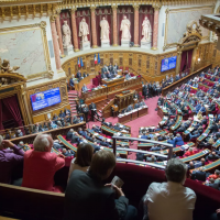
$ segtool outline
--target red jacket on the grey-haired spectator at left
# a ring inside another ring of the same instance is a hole
[[[61,191],[54,187],[54,175],[65,165],[55,153],[26,151],[24,153],[23,187],[47,191]]]

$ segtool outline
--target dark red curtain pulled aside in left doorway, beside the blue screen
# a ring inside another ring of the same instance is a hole
[[[15,96],[2,99],[2,103],[7,107],[8,111],[12,114],[14,121],[19,127],[23,127],[20,108]]]

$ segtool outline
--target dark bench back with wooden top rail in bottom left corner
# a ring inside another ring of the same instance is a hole
[[[21,219],[63,219],[64,194],[0,184],[0,211]]]

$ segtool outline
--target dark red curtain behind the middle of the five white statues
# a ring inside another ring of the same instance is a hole
[[[110,40],[110,45],[113,42],[113,15],[112,15],[112,10],[110,7],[108,8],[98,8],[96,9],[96,30],[97,30],[97,44],[98,46],[101,46],[101,38],[100,38],[100,33],[101,33],[101,28],[100,28],[100,21],[102,18],[106,18],[106,20],[109,22],[109,40]]]

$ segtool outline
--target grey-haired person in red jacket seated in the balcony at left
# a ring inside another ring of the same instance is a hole
[[[51,153],[53,139],[48,134],[38,134],[34,140],[34,150],[24,153],[23,187],[62,193],[54,186],[54,175],[65,165],[62,154]]]

